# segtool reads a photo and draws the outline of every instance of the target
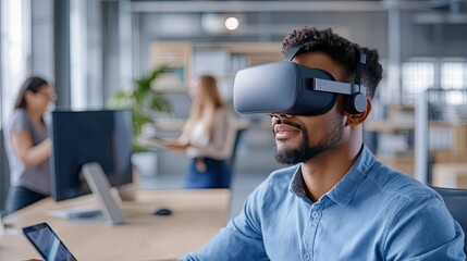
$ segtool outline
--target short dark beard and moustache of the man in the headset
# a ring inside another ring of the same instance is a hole
[[[300,125],[299,129],[302,130],[303,139],[298,148],[287,147],[279,150],[278,146],[275,146],[275,160],[282,164],[293,165],[300,162],[309,161],[315,157],[319,156],[320,153],[337,147],[342,138],[343,121],[344,116],[341,114],[337,115],[336,120],[332,125],[332,129],[317,145],[309,145],[307,128]],[[290,124],[285,120],[282,121],[282,123],[292,126],[296,125]]]

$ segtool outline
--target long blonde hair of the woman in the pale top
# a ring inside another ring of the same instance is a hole
[[[212,134],[216,125],[216,112],[220,108],[225,108],[225,101],[219,94],[218,84],[211,75],[200,75],[197,77],[198,88],[202,100],[195,99],[192,104],[189,117],[183,126],[183,136],[189,137],[194,126],[199,121],[207,122],[207,132]]]

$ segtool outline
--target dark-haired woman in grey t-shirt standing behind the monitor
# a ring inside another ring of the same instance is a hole
[[[39,77],[27,78],[20,88],[5,132],[11,173],[5,214],[50,195],[51,141],[44,114],[56,99],[52,86]]]

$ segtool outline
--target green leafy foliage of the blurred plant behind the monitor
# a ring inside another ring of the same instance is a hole
[[[147,75],[135,80],[133,89],[120,90],[108,100],[111,109],[131,109],[133,111],[133,152],[147,151],[147,147],[138,141],[143,127],[155,124],[155,114],[171,112],[165,96],[152,87],[152,82],[168,71],[168,65],[160,65]]]

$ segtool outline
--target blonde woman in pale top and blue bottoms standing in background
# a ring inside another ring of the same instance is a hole
[[[229,107],[219,95],[217,80],[201,75],[189,86],[191,115],[177,142],[167,144],[174,151],[185,151],[191,164],[185,188],[229,188],[234,126]]]

